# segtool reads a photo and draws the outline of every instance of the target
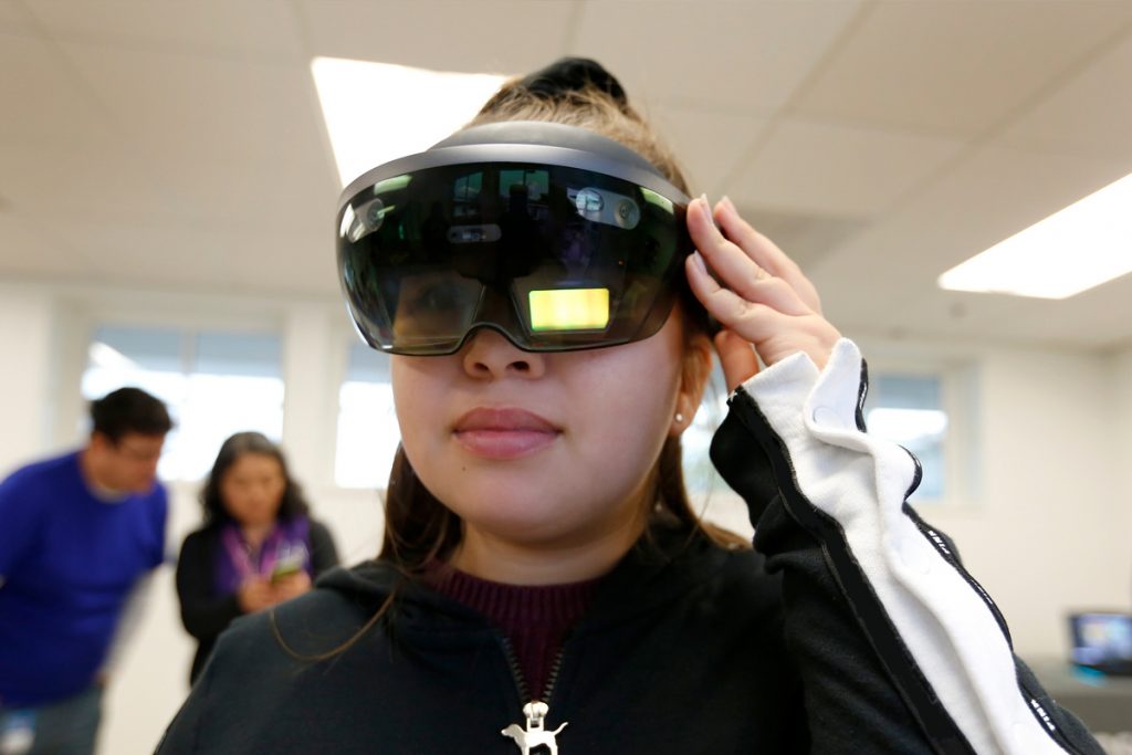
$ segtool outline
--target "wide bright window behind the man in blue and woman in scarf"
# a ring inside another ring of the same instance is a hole
[[[274,334],[104,326],[91,342],[83,396],[137,386],[166,403],[177,427],[157,473],[198,480],[233,432],[280,440],[283,376]]]

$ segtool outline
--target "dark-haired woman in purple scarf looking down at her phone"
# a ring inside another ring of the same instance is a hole
[[[190,683],[233,619],[298,598],[338,563],[283,452],[259,432],[224,441],[200,503],[205,524],[185,539],[177,561],[181,620],[199,642]]]

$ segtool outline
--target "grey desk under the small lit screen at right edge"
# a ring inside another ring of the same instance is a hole
[[[1046,692],[1090,731],[1132,732],[1132,677],[1083,676],[1060,659],[1026,662]]]

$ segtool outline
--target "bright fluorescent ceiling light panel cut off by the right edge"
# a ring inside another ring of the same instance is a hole
[[[1066,299],[1132,272],[1132,173],[940,276],[953,291]]]

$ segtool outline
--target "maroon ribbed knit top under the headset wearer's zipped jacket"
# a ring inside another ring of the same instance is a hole
[[[513,585],[437,566],[426,580],[438,592],[479,611],[511,640],[532,697],[546,692],[566,632],[590,607],[600,578],[571,584]]]

